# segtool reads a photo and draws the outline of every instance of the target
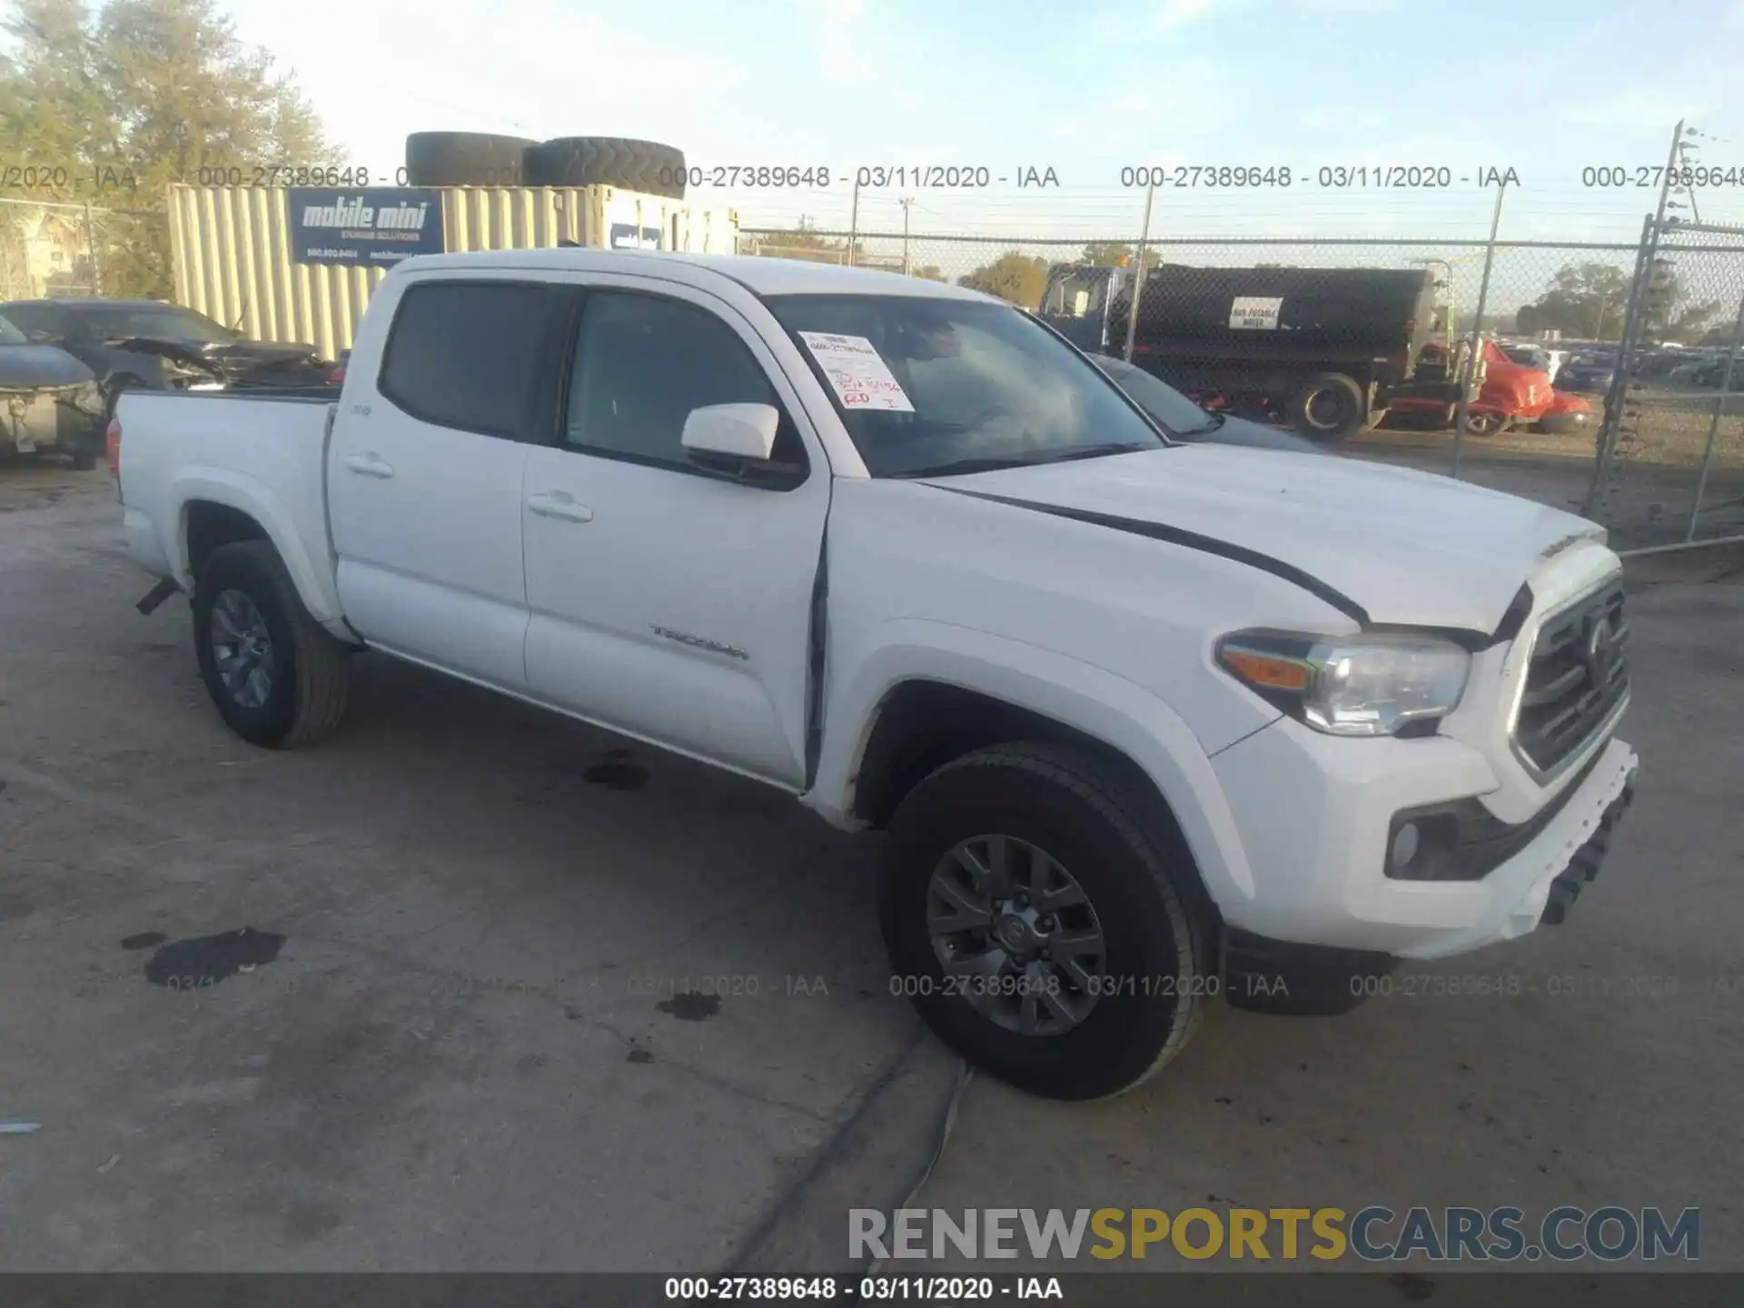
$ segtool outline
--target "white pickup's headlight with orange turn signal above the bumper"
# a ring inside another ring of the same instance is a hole
[[[1285,713],[1331,736],[1397,736],[1460,705],[1472,656],[1441,637],[1236,631],[1217,661]]]

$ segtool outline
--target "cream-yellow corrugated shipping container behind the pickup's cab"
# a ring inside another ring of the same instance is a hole
[[[731,255],[732,209],[696,209],[616,187],[443,187],[446,249],[605,246],[612,223],[657,227],[661,249]],[[293,263],[284,187],[171,187],[176,303],[255,340],[296,340],[337,358],[385,269]]]

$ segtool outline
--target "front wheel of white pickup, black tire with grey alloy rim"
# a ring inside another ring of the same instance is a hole
[[[891,989],[971,1064],[1053,1099],[1114,1095],[1186,1045],[1217,991],[1186,851],[1092,753],[947,762],[889,823]]]

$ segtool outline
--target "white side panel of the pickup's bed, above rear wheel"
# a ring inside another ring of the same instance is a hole
[[[347,635],[326,530],[335,399],[291,391],[124,392],[115,413],[122,525],[148,570],[192,589],[188,506],[246,513],[267,528],[316,621]]]

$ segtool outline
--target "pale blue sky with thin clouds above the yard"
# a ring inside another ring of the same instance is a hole
[[[352,164],[392,174],[406,133],[638,136],[691,164],[828,166],[827,190],[692,190],[743,225],[846,227],[856,166],[1052,167],[1059,190],[862,192],[860,230],[1123,237],[1128,164],[1291,166],[1289,190],[1160,190],[1153,235],[1632,241],[1645,188],[1587,166],[1662,164],[1678,119],[1739,183],[1744,0],[228,0],[295,70]],[[1448,166],[1448,192],[1305,185],[1331,164]]]

